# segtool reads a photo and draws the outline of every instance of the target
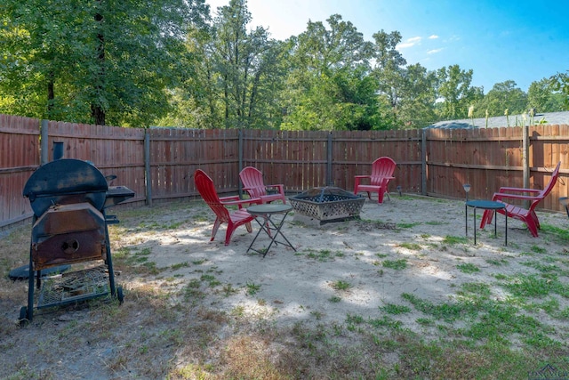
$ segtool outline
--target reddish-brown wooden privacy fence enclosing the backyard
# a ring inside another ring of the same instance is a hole
[[[526,138],[524,137],[526,136]],[[89,160],[114,185],[136,192],[134,204],[197,197],[197,168],[220,193],[240,191],[238,173],[255,166],[267,183],[288,194],[333,185],[353,190],[354,175],[368,174],[375,158],[397,162],[391,192],[441,198],[490,198],[500,186],[541,188],[562,162],[556,188],[542,209],[561,211],[569,178],[569,126],[404,131],[273,131],[120,128],[0,115],[0,227],[31,216],[21,191],[37,166],[52,159],[53,142],[64,158]]]

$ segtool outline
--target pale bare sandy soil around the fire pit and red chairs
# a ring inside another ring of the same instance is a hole
[[[162,285],[183,287],[204,272],[215,273],[216,281],[237,291],[220,295],[212,288],[208,303],[227,311],[244,307],[246,315],[274,320],[278,326],[339,323],[349,314],[378,318],[381,307],[405,302],[405,294],[446,303],[455,299],[463,284],[472,282],[488,284],[496,297],[504,298],[508,292],[497,285],[497,273],[539,274],[528,261],[540,261],[544,253],[566,254],[563,243],[546,231],[533,238],[524,223],[513,219],[508,221],[505,247],[503,215],[498,215],[498,236],[493,224],[488,225],[477,230],[475,246],[471,208],[465,237],[463,201],[391,194],[382,205],[366,199],[361,220],[318,225],[291,213],[283,232],[297,252],[273,245],[263,258],[251,251],[245,254],[259,228],[256,223],[252,234],[244,227],[237,229],[226,247],[223,225],[209,241],[213,214],[203,202],[181,205],[178,210],[153,212],[157,229],[141,230],[140,223],[151,221],[132,224],[132,218],[125,217],[111,241],[127,247],[130,255],[149,253],[148,261],[164,270],[162,277],[175,279],[156,280]],[[539,216],[546,230],[569,225],[566,214]],[[168,225],[177,227],[165,228]],[[255,244],[263,247],[268,242],[265,236]],[[128,276],[128,268],[124,272]],[[400,316],[405,327],[425,334],[417,319],[421,311]]]

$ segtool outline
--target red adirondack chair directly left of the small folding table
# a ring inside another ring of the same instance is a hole
[[[243,208],[243,205],[260,203],[260,199],[241,200],[238,196],[220,198],[215,190],[215,186],[213,186],[212,179],[203,170],[196,170],[194,182],[196,182],[197,191],[199,191],[207,206],[210,206],[216,216],[210,241],[215,238],[215,234],[222,223],[228,224],[228,230],[225,233],[226,246],[229,244],[229,240],[237,227],[244,224],[248,232],[252,231],[251,221],[255,217],[247,213],[247,209]],[[228,206],[237,206],[238,209],[234,212],[229,212]]]

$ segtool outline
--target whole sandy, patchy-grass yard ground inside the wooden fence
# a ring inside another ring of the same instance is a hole
[[[464,213],[461,200],[391,194],[366,200],[361,220],[289,214],[296,252],[273,246],[263,258],[246,253],[255,223],[228,246],[223,226],[210,242],[201,200],[118,210],[110,241],[124,303],[37,312],[17,327],[27,281],[6,276],[0,365],[13,378],[84,379],[519,378],[557,365],[569,336],[567,215],[539,213],[537,239],[509,220],[505,247],[502,215],[498,237],[488,226],[474,246]],[[28,232],[0,240],[6,272],[27,263]],[[266,376],[275,366],[290,376]]]

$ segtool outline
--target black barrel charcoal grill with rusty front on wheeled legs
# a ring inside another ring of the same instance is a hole
[[[113,176],[114,177],[114,176]],[[123,302],[108,240],[108,224],[117,223],[105,209],[134,196],[124,186],[108,186],[108,178],[91,163],[56,159],[40,166],[23,190],[34,212],[28,265],[28,306],[20,321],[31,321],[33,310],[76,303],[103,295]],[[64,264],[102,261],[79,271],[42,276]],[[34,286],[36,279],[36,286]]]

